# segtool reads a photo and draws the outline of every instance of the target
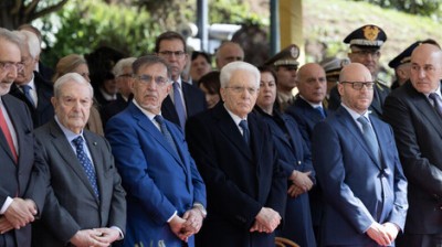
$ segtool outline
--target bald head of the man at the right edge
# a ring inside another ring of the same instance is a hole
[[[411,53],[410,80],[413,87],[430,94],[438,89],[442,77],[442,52],[436,45],[421,44]]]

